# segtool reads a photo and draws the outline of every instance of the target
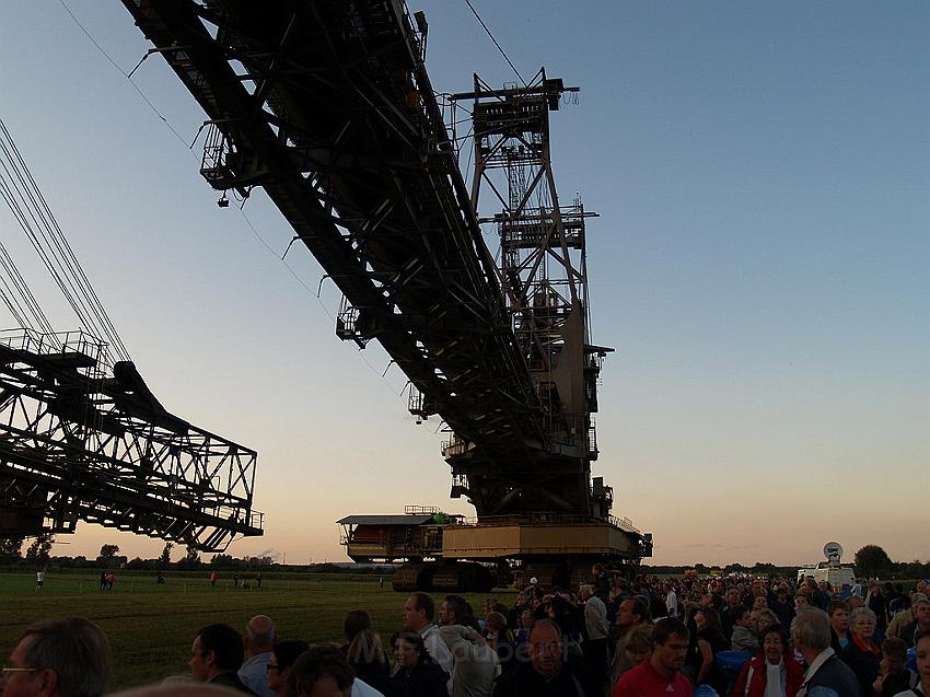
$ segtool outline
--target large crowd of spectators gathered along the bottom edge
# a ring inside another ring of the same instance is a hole
[[[191,637],[189,674],[131,694],[930,697],[927,592],[926,581],[842,592],[811,579],[628,581],[595,565],[578,588],[533,582],[511,607],[411,593],[387,650],[361,608],[329,644],[279,640],[265,615],[243,632],[211,624]],[[0,697],[96,697],[108,666],[94,623],[36,624],[2,669]]]

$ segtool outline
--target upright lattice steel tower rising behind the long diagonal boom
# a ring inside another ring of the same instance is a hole
[[[549,131],[550,113],[577,92],[542,69],[528,84],[504,89],[490,88],[476,74],[473,92],[452,95],[452,121],[458,121],[458,104],[467,103],[472,204],[475,210],[496,211],[479,222],[499,235],[500,281],[512,328],[544,405],[551,450],[561,455],[550,467],[550,484],[539,487],[534,479],[535,488],[557,509],[584,513],[586,502],[600,516],[609,511],[609,490],[601,487],[588,496],[590,463],[597,457],[592,413],[602,359],[612,349],[590,340],[585,219],[594,213],[579,198],[559,204]],[[476,478],[467,465],[460,469]],[[573,489],[576,499],[555,495]],[[511,489],[509,496],[516,493]],[[525,487],[520,493],[531,498]]]

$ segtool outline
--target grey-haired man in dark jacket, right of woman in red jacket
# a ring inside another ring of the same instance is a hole
[[[799,609],[791,623],[791,639],[807,664],[799,697],[862,697],[856,674],[830,648],[829,619],[824,611]]]

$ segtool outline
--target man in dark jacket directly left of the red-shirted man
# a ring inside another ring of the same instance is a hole
[[[562,632],[549,619],[530,631],[528,663],[521,663],[495,683],[493,697],[586,697],[578,678],[562,662]]]

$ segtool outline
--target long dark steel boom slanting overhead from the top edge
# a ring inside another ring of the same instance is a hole
[[[202,174],[260,185],[476,457],[545,456],[545,411],[399,0],[124,0],[207,113]],[[348,315],[347,315],[348,316]]]

